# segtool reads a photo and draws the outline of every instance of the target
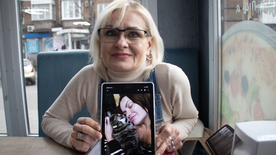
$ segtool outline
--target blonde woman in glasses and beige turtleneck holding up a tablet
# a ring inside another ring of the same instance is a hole
[[[181,140],[197,123],[198,111],[185,73],[162,62],[163,41],[147,9],[132,0],[113,1],[99,14],[90,40],[94,63],[79,71],[46,111],[42,122],[44,133],[64,146],[86,152],[102,138],[98,119],[99,83],[156,79],[164,122],[156,124],[159,148],[155,154],[181,148]],[[84,105],[91,118],[79,118],[72,127],[69,120]]]

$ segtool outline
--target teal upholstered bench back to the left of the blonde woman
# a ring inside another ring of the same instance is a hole
[[[37,55],[38,134],[45,137],[41,127],[42,116],[54,103],[71,78],[81,68],[91,64],[89,50],[50,51]],[[86,106],[70,121],[73,125],[79,117],[91,117]]]

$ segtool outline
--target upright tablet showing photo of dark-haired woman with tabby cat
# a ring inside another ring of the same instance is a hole
[[[154,109],[152,82],[103,83],[100,154],[154,155]]]

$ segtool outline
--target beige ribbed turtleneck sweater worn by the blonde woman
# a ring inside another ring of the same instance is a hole
[[[111,82],[142,82],[145,63],[134,71],[118,73],[108,70]],[[156,78],[161,94],[164,123],[171,123],[179,129],[185,139],[197,123],[198,111],[193,104],[190,83],[181,68],[160,63],[156,65]],[[70,145],[73,126],[69,121],[86,105],[91,118],[98,120],[98,85],[100,76],[94,65],[85,66],[67,84],[60,96],[43,116],[44,133],[61,145]],[[163,124],[162,124],[163,125]],[[161,126],[157,124],[157,129]]]

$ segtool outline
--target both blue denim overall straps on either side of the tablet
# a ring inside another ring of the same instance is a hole
[[[99,90],[99,98],[98,98],[98,119],[101,119],[101,96],[102,96],[102,84],[105,81],[101,79],[98,90]],[[150,77],[145,82],[152,82],[154,84],[154,100],[155,100],[155,123],[164,122],[162,106],[161,106],[161,95],[159,93],[157,80],[156,80],[156,71],[155,68],[153,72],[150,74]]]

